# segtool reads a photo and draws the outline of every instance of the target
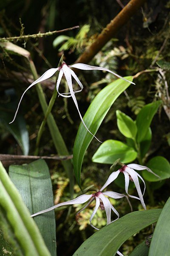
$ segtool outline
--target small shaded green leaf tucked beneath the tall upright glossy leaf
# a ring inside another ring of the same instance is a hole
[[[151,140],[152,140],[152,131],[150,129],[150,127],[148,128],[143,140],[140,143],[140,153],[141,153],[141,157],[143,158],[145,156],[145,154],[147,153],[147,151],[150,148],[150,144],[151,144]]]

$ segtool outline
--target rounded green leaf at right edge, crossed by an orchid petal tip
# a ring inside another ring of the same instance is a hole
[[[142,175],[145,180],[159,181],[159,180],[168,179],[170,177],[170,163],[164,157],[158,156],[158,157],[151,158],[147,163],[147,167],[149,167],[153,172],[159,175],[160,178],[144,170],[142,171]]]

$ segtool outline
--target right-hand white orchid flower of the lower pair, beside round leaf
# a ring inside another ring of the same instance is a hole
[[[145,188],[146,188],[145,183],[144,183],[144,179],[141,177],[141,175],[139,175],[138,172],[135,172],[134,169],[137,170],[137,171],[141,171],[141,170],[146,169],[148,172],[151,172],[153,175],[159,177],[152,170],[150,170],[147,166],[141,166],[141,165],[136,164],[136,163],[131,163],[131,164],[122,166],[122,168],[120,168],[116,172],[112,172],[111,175],[108,177],[108,180],[106,181],[105,185],[102,186],[102,190],[105,189],[105,187],[108,186],[111,182],[113,182],[113,180],[116,180],[119,173],[122,172],[125,175],[125,191],[126,191],[127,195],[130,198],[136,198],[136,199],[140,200],[143,208],[146,210],[146,206],[144,204],[144,199],[143,199]],[[142,193],[141,188],[140,188],[138,177],[144,183],[144,192],[143,193]],[[129,180],[131,180],[135,183],[136,190],[138,192],[139,198],[136,197],[136,196],[133,196],[133,195],[129,195],[129,193],[128,193]]]

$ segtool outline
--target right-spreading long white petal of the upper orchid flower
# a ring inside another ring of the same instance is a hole
[[[116,73],[112,72],[111,70],[108,70],[105,67],[95,67],[95,66],[91,66],[91,65],[87,65],[87,64],[82,64],[82,63],[76,63],[76,64],[73,64],[69,67],[75,67],[75,68],[78,68],[78,69],[81,69],[81,70],[103,70],[103,71],[107,71],[107,72],[112,73],[113,75],[129,82],[130,84],[135,84],[135,83],[123,78],[122,76],[117,75]]]

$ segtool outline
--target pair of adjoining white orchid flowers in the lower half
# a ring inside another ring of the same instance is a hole
[[[143,199],[143,195],[145,192],[145,183],[143,178],[141,177],[141,175],[139,175],[138,172],[136,172],[135,170],[141,171],[141,170],[147,170],[148,172],[151,172],[153,175],[156,175],[152,170],[150,170],[147,166],[141,166],[139,164],[128,164],[128,165],[124,165],[122,164],[122,167],[116,171],[116,172],[112,172],[111,175],[108,177],[108,179],[106,180],[105,184],[102,186],[102,188],[100,190],[98,190],[96,193],[92,193],[90,195],[80,195],[79,197],[70,200],[70,201],[66,201],[66,202],[62,202],[60,204],[54,205],[53,207],[50,207],[48,209],[42,210],[40,212],[36,212],[34,214],[31,215],[31,217],[37,216],[39,214],[45,213],[45,212],[49,212],[53,209],[56,209],[60,206],[65,206],[65,205],[73,205],[73,204],[84,204],[88,201],[88,203],[79,211],[81,212],[82,210],[84,210],[85,208],[87,208],[91,202],[95,199],[96,200],[96,206],[94,207],[94,210],[92,212],[92,215],[90,217],[90,225],[91,227],[93,227],[96,230],[99,230],[97,227],[94,227],[94,225],[91,223],[92,219],[94,218],[94,215],[97,212],[97,209],[100,207],[102,210],[105,210],[106,212],[106,217],[107,217],[107,225],[110,224],[113,221],[116,221],[119,218],[119,213],[116,211],[116,209],[113,207],[113,205],[111,204],[111,202],[109,201],[108,197],[110,198],[114,198],[114,199],[119,199],[119,198],[127,198],[127,201],[130,205],[130,209],[132,211],[132,206],[130,204],[129,198],[135,198],[141,201],[141,204],[143,206],[143,208],[146,210],[146,206],[144,204],[144,199]],[[113,191],[106,191],[103,192],[103,190],[109,185],[111,184],[114,180],[116,180],[116,178],[118,177],[119,173],[122,172],[125,176],[125,191],[127,193],[127,195],[124,194],[120,194],[117,192],[113,192]],[[158,175],[156,175],[157,177],[159,177]],[[141,188],[140,188],[140,184],[139,184],[139,179],[138,177],[142,180],[142,182],[144,183],[144,191],[142,193]],[[129,187],[129,180],[133,181],[135,186],[136,186],[136,190],[138,192],[139,197],[133,196],[133,195],[129,195],[128,193],[128,187]],[[113,211],[117,218],[113,221],[111,221],[111,211]],[[77,212],[77,215],[79,214],[79,212]],[[119,251],[117,251],[117,254],[119,256],[123,256],[122,253],[120,253]]]

